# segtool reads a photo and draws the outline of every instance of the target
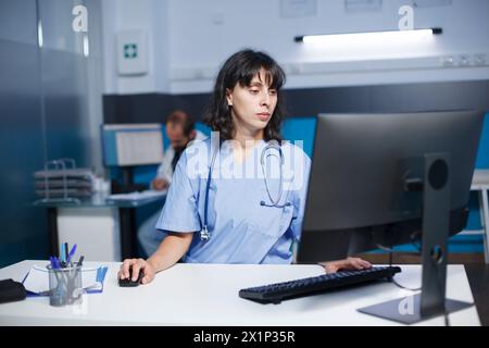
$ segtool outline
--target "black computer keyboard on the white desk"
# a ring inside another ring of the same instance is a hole
[[[398,266],[375,266],[361,271],[344,271],[323,274],[291,282],[268,284],[239,290],[239,297],[261,303],[278,304],[283,300],[315,295],[325,290],[372,283],[374,281],[391,281]]]

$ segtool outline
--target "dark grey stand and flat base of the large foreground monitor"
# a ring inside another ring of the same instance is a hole
[[[474,304],[446,298],[450,156],[429,153],[425,156],[424,162],[424,179],[406,182],[408,190],[423,190],[422,293],[359,309],[362,313],[402,324],[414,324]]]

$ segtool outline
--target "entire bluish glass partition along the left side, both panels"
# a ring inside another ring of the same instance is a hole
[[[49,256],[46,209],[32,207],[33,173],[48,159],[87,164],[87,65],[71,27],[76,3],[0,1],[0,268]]]

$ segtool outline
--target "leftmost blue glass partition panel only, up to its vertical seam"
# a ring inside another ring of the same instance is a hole
[[[0,268],[48,251],[46,211],[29,206],[45,152],[36,23],[35,0],[0,2]]]

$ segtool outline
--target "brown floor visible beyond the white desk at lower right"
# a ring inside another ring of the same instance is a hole
[[[361,254],[359,257],[376,264],[389,263],[388,254]],[[421,263],[421,258],[413,253],[399,253],[393,257],[392,262],[397,264]],[[450,254],[449,263],[465,265],[480,323],[484,326],[489,326],[489,264],[485,263],[484,254]]]

